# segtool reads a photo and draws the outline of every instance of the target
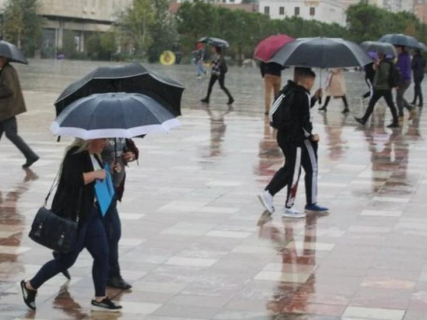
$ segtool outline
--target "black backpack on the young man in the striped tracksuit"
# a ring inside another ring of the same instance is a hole
[[[278,130],[283,130],[293,120],[292,102],[295,95],[294,90],[283,88],[277,95],[276,100],[270,110],[270,125]]]

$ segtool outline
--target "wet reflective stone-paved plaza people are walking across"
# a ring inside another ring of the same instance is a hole
[[[121,314],[90,312],[91,257],[39,289],[27,311],[17,282],[51,258],[28,237],[32,219],[56,175],[69,139],[48,131],[53,102],[96,63],[31,61],[18,66],[28,112],[22,137],[41,155],[24,171],[19,151],[0,142],[0,319],[427,319],[427,122],[425,115],[385,129],[384,105],[366,128],[358,95],[363,74],[347,73],[352,114],[333,100],[313,109],[319,133],[319,203],[329,215],[282,219],[256,198],[283,163],[263,116],[256,69],[230,68],[210,108],[199,104],[207,79],[190,66],[153,66],[182,82],[182,126],[136,139],[139,166],[128,169],[120,262],[131,291],[110,290]],[[288,77],[286,73],[284,78]],[[412,98],[412,91],[407,94]],[[305,204],[303,179],[297,207]]]

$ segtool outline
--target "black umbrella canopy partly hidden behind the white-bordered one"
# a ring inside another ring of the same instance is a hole
[[[127,92],[149,95],[174,116],[181,115],[184,87],[171,78],[145,68],[138,62],[99,67],[69,85],[55,102],[59,115],[72,102],[96,93]]]

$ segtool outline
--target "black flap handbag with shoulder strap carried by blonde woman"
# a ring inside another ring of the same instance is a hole
[[[62,218],[46,208],[58,175],[59,173],[50,187],[44,206],[37,211],[34,217],[28,236],[46,248],[61,253],[69,253],[74,249],[74,244],[77,240],[77,221]],[[77,208],[80,207],[80,201],[81,189]]]

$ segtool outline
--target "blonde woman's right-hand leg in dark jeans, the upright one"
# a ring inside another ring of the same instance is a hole
[[[92,214],[93,218],[87,227],[84,246],[93,257],[92,279],[95,297],[104,297],[109,272],[109,244],[98,212],[93,210]]]

